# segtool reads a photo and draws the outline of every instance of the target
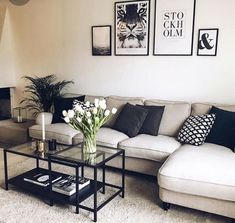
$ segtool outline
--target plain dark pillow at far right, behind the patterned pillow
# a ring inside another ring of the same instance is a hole
[[[216,114],[215,123],[206,138],[206,142],[228,147],[235,146],[235,112],[212,107],[210,114]]]

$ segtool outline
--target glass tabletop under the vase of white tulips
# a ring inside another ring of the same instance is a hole
[[[122,154],[122,149],[109,148],[104,146],[97,146],[95,153],[88,154],[84,153],[82,146],[72,146],[61,152],[52,155],[52,159],[59,159],[68,161],[76,164],[84,164],[87,166],[99,166],[114,157]]]

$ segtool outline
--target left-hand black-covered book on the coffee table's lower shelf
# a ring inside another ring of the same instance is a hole
[[[62,178],[60,174],[56,174],[56,173],[51,173],[51,177],[52,177],[52,183],[55,183],[56,181]],[[37,172],[28,174],[28,176],[25,176],[24,181],[27,181],[29,183],[33,183],[42,187],[47,187],[49,185],[49,175],[48,175],[48,172],[39,170]]]

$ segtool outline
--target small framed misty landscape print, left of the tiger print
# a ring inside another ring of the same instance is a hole
[[[92,55],[93,56],[111,56],[112,40],[111,26],[92,26]]]

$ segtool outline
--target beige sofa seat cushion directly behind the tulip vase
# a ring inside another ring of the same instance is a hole
[[[102,127],[98,130],[96,136],[97,145],[117,148],[119,142],[128,139],[129,137],[124,133],[118,132],[111,128]],[[79,134],[74,137],[75,141],[82,141],[83,135]]]

